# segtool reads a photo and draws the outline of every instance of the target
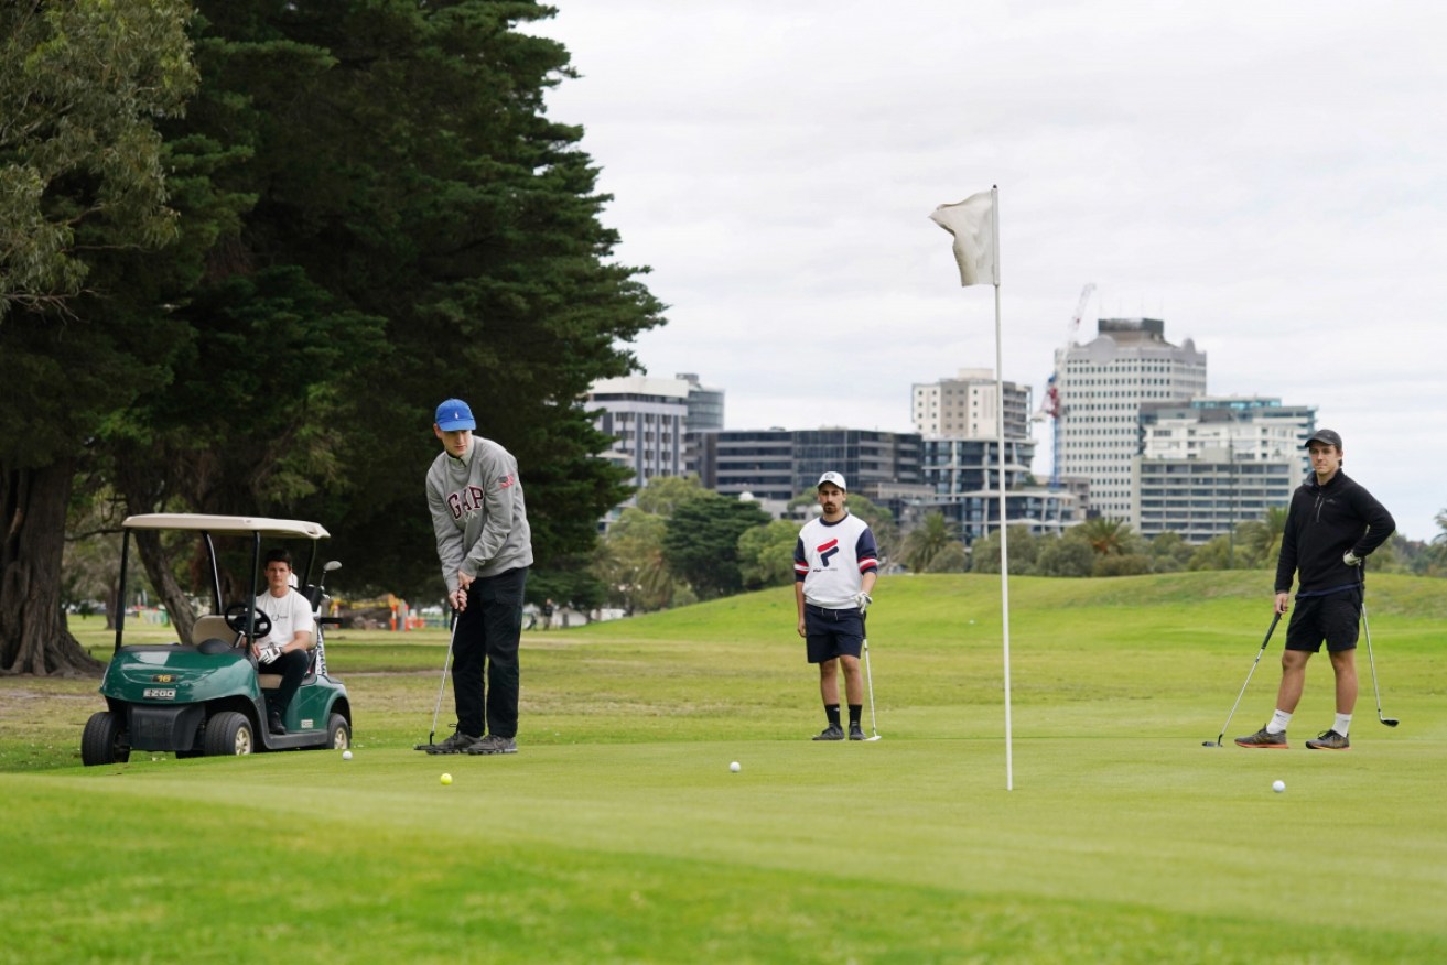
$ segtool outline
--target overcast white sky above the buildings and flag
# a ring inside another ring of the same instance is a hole
[[[993,367],[935,205],[1000,187],[1004,378],[1081,291],[1163,318],[1210,392],[1318,407],[1411,538],[1447,508],[1447,13],[1435,3],[553,0],[619,260],[669,324],[650,375],[728,428],[909,431]],[[1049,430],[1036,470],[1048,475]]]

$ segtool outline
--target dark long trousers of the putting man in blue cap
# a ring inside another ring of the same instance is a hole
[[[482,736],[518,735],[518,641],[528,569],[478,577],[453,638],[457,729]],[[486,670],[486,684],[483,684]]]

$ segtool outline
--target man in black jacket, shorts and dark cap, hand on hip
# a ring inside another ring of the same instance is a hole
[[[1276,612],[1291,600],[1292,573],[1301,574],[1297,612],[1286,625],[1281,657],[1276,713],[1256,734],[1236,738],[1240,747],[1285,748],[1286,725],[1307,683],[1307,661],[1327,642],[1337,677],[1337,719],[1330,731],[1307,741],[1312,751],[1346,751],[1356,707],[1356,638],[1362,619],[1362,561],[1392,535],[1396,522],[1366,489],[1341,472],[1341,437],[1330,428],[1307,440],[1312,477],[1297,488],[1286,511],[1286,531],[1276,560]]]

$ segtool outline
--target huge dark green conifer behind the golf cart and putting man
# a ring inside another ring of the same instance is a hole
[[[551,12],[198,10],[203,85],[165,126],[187,245],[140,275],[185,326],[177,378],[103,437],[132,511],[320,519],[350,586],[440,596],[420,480],[459,395],[518,459],[530,598],[554,576],[593,595],[582,561],[629,490],[579,399],[663,320],[645,269],[611,260],[582,130],[544,116],[567,51],[517,25]]]

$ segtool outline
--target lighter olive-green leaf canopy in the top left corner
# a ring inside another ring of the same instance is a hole
[[[181,0],[0,9],[0,323],[22,308],[54,324],[97,252],[175,236],[155,122],[195,85],[188,13]]]

